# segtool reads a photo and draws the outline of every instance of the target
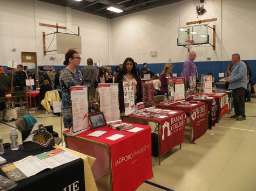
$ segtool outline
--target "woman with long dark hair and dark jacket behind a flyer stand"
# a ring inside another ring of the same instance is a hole
[[[121,113],[125,111],[123,81],[133,82],[135,104],[142,102],[142,80],[140,80],[140,77],[137,74],[137,68],[132,58],[126,58],[124,60],[123,69],[114,80],[115,83],[118,83],[119,109]]]

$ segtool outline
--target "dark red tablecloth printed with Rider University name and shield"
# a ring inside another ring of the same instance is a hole
[[[191,105],[197,104],[197,105]],[[156,108],[162,109],[174,109],[185,111],[190,114],[191,124],[191,142],[204,135],[207,131],[207,117],[208,117],[208,105],[206,103],[193,103],[190,105],[182,105],[181,103],[174,103],[170,105],[164,105],[163,103],[156,104]]]

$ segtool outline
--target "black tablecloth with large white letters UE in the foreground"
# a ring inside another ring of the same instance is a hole
[[[20,145],[21,147],[21,145]],[[5,149],[5,153],[1,156],[6,159],[6,163],[21,160],[29,155],[36,155],[55,148],[43,148],[30,152],[23,152],[21,148],[17,151],[11,151],[10,148]],[[2,164],[4,165],[4,164]],[[0,169],[0,174],[7,177]],[[67,164],[52,169],[46,169],[27,179],[18,181],[18,186],[12,188],[11,191],[63,191],[63,190],[85,190],[84,185],[84,163],[83,159],[77,159]],[[71,186],[70,186],[71,185]],[[75,189],[73,187],[76,187]]]

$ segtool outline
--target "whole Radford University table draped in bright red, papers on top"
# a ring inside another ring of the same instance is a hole
[[[98,130],[107,131],[100,137],[90,137],[92,130],[69,137],[63,132],[66,146],[97,160],[92,167],[95,179],[110,173],[112,190],[135,190],[145,180],[153,177],[151,164],[151,128],[133,124],[142,128],[138,132],[117,131],[107,127]],[[116,137],[117,139],[113,139]]]

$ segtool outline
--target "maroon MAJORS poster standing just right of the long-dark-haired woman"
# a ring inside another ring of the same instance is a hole
[[[142,99],[145,108],[154,106],[154,84],[153,79],[142,80]]]

